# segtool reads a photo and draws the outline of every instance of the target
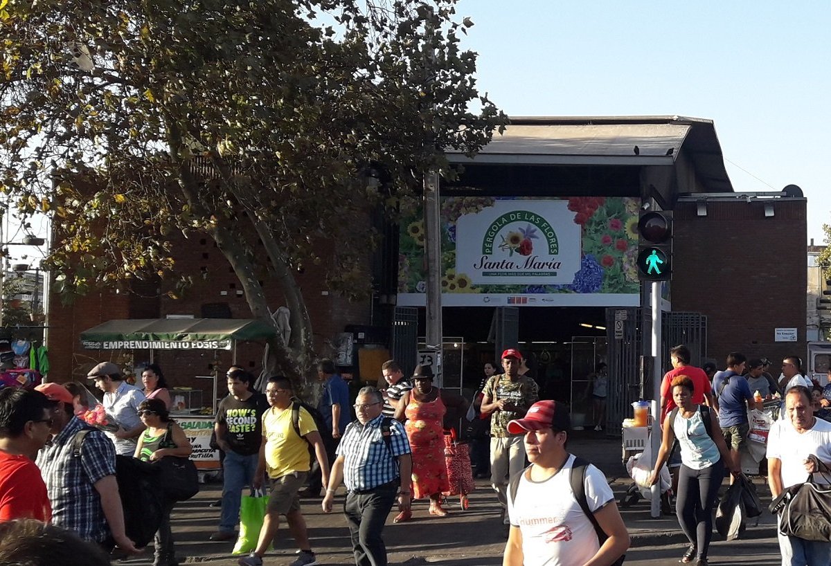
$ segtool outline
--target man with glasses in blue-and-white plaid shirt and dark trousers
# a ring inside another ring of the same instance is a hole
[[[410,509],[412,457],[410,442],[401,422],[381,415],[384,398],[366,387],[355,401],[357,421],[349,423],[337,459],[332,465],[323,511],[332,512],[337,486],[347,485],[343,505],[357,566],[386,566],[386,546],[381,539],[387,515],[398,492],[398,509]]]

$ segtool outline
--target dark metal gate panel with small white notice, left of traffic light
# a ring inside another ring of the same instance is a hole
[[[606,397],[606,430],[617,434],[620,423],[632,413],[641,389],[638,372],[641,358],[641,333],[638,328],[641,310],[608,308],[606,310],[607,364],[609,373]]]

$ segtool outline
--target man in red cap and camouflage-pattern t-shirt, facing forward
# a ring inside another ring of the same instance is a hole
[[[509,432],[508,422],[524,417],[525,412],[539,398],[534,379],[519,375],[521,364],[522,354],[519,354],[519,350],[506,349],[502,353],[505,373],[489,378],[484,385],[482,398],[482,413],[491,415],[490,484],[496,491],[499,505],[502,505],[504,525],[508,525],[505,489],[509,477],[518,474],[525,466],[522,435]]]

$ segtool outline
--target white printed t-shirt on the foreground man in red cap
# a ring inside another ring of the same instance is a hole
[[[516,500],[508,494],[511,525],[522,532],[524,566],[577,566],[597,554],[600,543],[592,522],[580,509],[571,489],[574,456],[546,481],[530,481],[523,473]],[[595,466],[583,481],[588,508],[597,511],[614,500],[606,476]]]

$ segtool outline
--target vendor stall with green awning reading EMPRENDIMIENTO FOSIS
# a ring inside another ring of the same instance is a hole
[[[154,361],[157,350],[228,350],[237,363],[237,343],[259,341],[277,335],[261,320],[245,319],[140,319],[110,320],[81,332],[81,345],[88,350],[143,349]],[[188,435],[194,451],[190,456],[200,470],[218,470],[219,451],[210,447],[218,398],[218,370],[204,377],[213,381],[210,407],[203,407],[199,389],[172,388],[170,413]]]

